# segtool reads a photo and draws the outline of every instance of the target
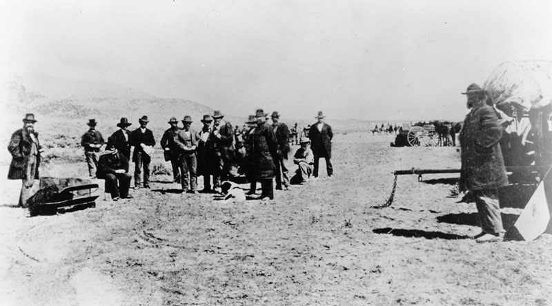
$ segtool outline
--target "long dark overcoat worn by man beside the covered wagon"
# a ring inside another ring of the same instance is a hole
[[[497,189],[508,184],[500,151],[501,137],[502,126],[492,106],[476,106],[466,115],[459,138],[460,191]]]

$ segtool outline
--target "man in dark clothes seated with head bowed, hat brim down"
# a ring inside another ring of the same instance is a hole
[[[115,142],[111,137],[106,146],[106,153],[99,157],[96,177],[106,180],[106,192],[111,193],[112,200],[132,198],[132,195],[128,194],[132,178],[128,174],[128,159],[115,149]]]

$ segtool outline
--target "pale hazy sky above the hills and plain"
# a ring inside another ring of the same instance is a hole
[[[6,1],[4,75],[110,82],[245,117],[453,119],[552,60],[552,1]]]

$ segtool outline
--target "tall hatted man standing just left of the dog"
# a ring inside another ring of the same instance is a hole
[[[213,113],[213,137],[215,153],[215,173],[213,173],[213,185],[215,191],[221,192],[220,184],[230,177],[230,162],[234,157],[234,131],[232,124],[222,118],[224,115],[220,111]]]

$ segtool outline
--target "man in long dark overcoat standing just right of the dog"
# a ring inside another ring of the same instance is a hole
[[[266,114],[262,109],[255,112],[257,126],[249,134],[251,173],[250,178],[261,182],[262,193],[259,200],[274,198],[274,160],[277,144],[273,128],[266,123]]]

